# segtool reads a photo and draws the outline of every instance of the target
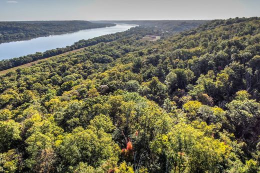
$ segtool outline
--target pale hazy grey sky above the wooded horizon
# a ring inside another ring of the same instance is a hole
[[[0,21],[226,19],[260,16],[260,0],[0,0]]]

